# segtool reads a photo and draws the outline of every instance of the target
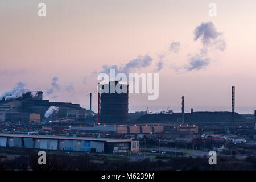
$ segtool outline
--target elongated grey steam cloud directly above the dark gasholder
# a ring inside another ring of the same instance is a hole
[[[108,65],[103,65],[103,73],[109,73],[110,69],[115,69],[116,72],[118,73],[130,73],[135,71],[135,69],[141,69],[141,68],[145,68],[151,65],[152,63],[152,57],[148,56],[148,55],[139,55],[137,58],[129,61],[124,67],[119,67],[117,65],[112,65],[112,66],[108,66]]]

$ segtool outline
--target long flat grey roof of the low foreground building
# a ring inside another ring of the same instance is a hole
[[[19,135],[0,133],[0,137],[26,137],[26,138],[43,138],[43,139],[64,139],[64,140],[87,140],[96,142],[131,142],[131,139],[113,139],[113,138],[88,138],[88,137],[63,137],[52,135]]]

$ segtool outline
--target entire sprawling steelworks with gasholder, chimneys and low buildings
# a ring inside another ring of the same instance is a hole
[[[124,88],[118,93],[114,88]],[[226,155],[255,155],[256,111],[235,112],[232,87],[231,112],[180,112],[173,110],[129,113],[129,85],[112,81],[98,84],[98,111],[79,104],[50,102],[43,92],[26,91],[2,95],[0,101],[0,150],[46,150],[113,155],[134,160],[171,159],[176,156],[203,157],[214,150]],[[111,92],[110,92],[111,91]],[[15,97],[14,97],[15,96]],[[105,156],[106,157],[106,156]]]

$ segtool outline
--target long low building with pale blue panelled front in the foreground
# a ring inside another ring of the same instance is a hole
[[[52,135],[19,135],[1,133],[0,147],[116,154],[129,151],[138,151],[139,142],[131,139],[61,137]]]

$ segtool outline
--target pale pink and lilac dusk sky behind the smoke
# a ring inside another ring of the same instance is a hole
[[[39,18],[38,3],[47,6]],[[159,71],[159,98],[130,95],[130,105],[229,106],[231,86],[236,86],[236,105],[256,103],[256,1],[214,1],[217,16],[208,15],[213,1],[0,1],[0,93],[16,82],[30,89],[51,88],[59,77],[59,97],[52,101],[89,103],[95,95],[102,65],[122,65],[138,55],[150,55],[152,65],[138,73],[154,73],[158,55],[172,41],[179,53],[169,53]],[[187,63],[188,53],[201,48],[193,31],[212,22],[226,42],[224,52],[211,52],[210,65],[199,71],[176,73],[170,65]],[[83,78],[86,76],[86,85]],[[75,92],[65,86],[73,82]],[[96,103],[96,97],[93,98]],[[96,105],[96,104],[95,104]],[[256,106],[255,106],[256,107]],[[256,109],[256,108],[255,108]]]

